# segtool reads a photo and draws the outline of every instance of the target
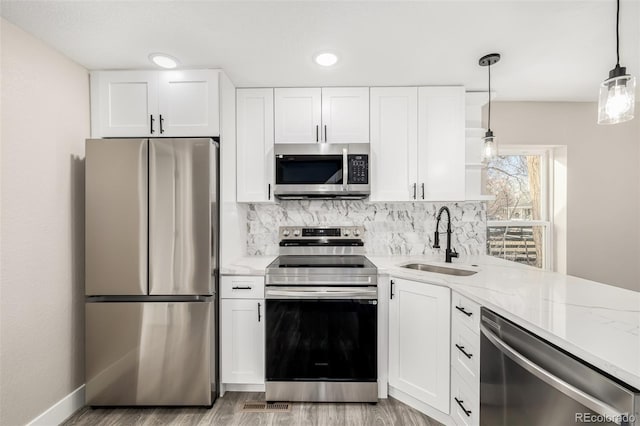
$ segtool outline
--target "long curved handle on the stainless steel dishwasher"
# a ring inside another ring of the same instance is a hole
[[[570,383],[565,382],[561,378],[551,374],[538,364],[527,359],[524,355],[513,349],[507,343],[505,343],[500,337],[489,330],[484,324],[480,324],[480,331],[482,334],[496,347],[508,356],[513,362],[520,367],[533,374],[538,379],[542,380],[549,386],[553,387],[559,392],[562,392],[569,398],[578,401],[585,407],[588,407],[602,416],[610,416],[617,424],[621,424],[621,420],[628,416],[628,413],[621,413],[616,408],[600,401],[599,399],[589,395],[588,393],[578,389]]]

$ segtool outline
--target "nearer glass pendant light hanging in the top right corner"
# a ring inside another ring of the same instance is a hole
[[[598,124],[617,124],[633,119],[636,79],[620,66],[620,0],[616,2],[616,66],[600,84]]]

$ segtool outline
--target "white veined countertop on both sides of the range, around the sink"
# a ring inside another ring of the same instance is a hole
[[[380,274],[445,285],[640,389],[640,292],[490,256],[367,256]],[[264,275],[275,256],[244,257],[221,270]],[[460,277],[402,268],[410,262],[477,270]],[[473,267],[471,265],[477,265]]]

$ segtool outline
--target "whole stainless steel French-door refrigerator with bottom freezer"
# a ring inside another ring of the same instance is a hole
[[[218,143],[86,141],[86,403],[216,398]]]

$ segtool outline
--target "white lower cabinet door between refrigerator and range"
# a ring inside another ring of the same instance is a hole
[[[222,383],[264,383],[264,299],[222,299]]]

